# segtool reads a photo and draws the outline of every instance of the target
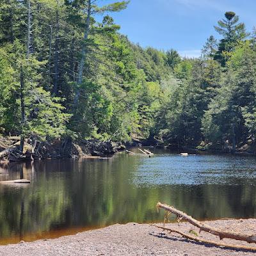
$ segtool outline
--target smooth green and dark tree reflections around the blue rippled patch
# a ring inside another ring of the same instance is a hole
[[[159,200],[199,219],[256,216],[256,190],[250,183],[134,186],[132,175],[139,164],[140,159],[121,155],[9,166],[9,179],[19,179],[22,170],[24,179],[33,182],[0,186],[0,236],[163,220],[155,207]]]

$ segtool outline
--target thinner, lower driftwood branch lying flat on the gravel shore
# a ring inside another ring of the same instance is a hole
[[[209,240],[201,239],[201,238],[198,238],[198,237],[190,236],[188,234],[185,234],[185,233],[180,232],[179,230],[175,230],[173,228],[166,228],[166,227],[161,227],[161,226],[153,225],[153,224],[152,224],[152,226],[157,227],[157,228],[163,228],[163,230],[168,230],[168,231],[170,231],[170,233],[173,232],[173,233],[180,234],[182,237],[185,237],[189,240],[194,240],[194,241],[197,241],[197,242],[200,242],[200,243],[212,244],[212,245],[215,245],[215,246],[222,246],[222,247],[225,247],[225,248],[248,250],[248,251],[256,252],[256,247],[244,246],[244,245],[235,245],[235,244],[225,244],[225,243],[219,243],[219,242],[216,242],[216,241],[209,241]]]

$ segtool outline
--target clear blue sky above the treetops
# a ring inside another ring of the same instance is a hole
[[[256,26],[256,0],[131,0],[126,10],[111,16],[132,42],[174,48],[190,57],[200,55],[207,37],[218,38],[213,26],[227,11],[236,12],[248,31]]]

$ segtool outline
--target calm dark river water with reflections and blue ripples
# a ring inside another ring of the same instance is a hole
[[[200,220],[256,218],[254,157],[154,153],[1,166],[0,180],[31,184],[0,184],[0,244],[163,221],[158,201]]]

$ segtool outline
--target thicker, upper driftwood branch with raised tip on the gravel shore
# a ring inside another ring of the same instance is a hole
[[[238,232],[229,232],[229,231],[213,228],[213,227],[211,227],[209,225],[206,225],[206,224],[204,224],[204,223],[202,223],[198,220],[195,220],[191,216],[188,216],[186,213],[184,213],[182,211],[179,211],[179,210],[175,209],[172,206],[169,206],[169,205],[166,205],[166,204],[161,204],[160,202],[157,204],[157,207],[162,208],[162,209],[164,209],[168,212],[172,212],[178,218],[182,218],[183,220],[186,220],[189,223],[191,223],[192,225],[194,225],[195,227],[200,228],[200,231],[203,230],[205,232],[208,232],[210,234],[213,234],[215,236],[220,237],[220,239],[230,238],[230,239],[246,241],[248,243],[256,243],[256,235],[251,236],[251,235],[241,234],[241,233],[238,233]]]

